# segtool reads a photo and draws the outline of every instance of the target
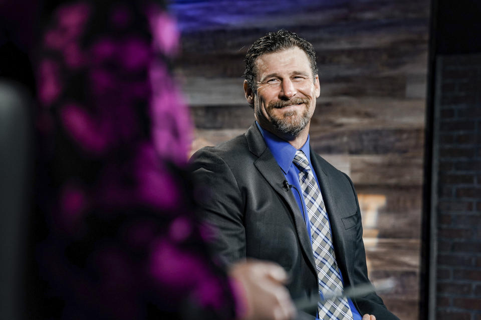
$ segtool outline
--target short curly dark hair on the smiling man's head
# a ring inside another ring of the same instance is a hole
[[[276,32],[269,32],[268,34],[257,39],[253,45],[247,50],[244,61],[246,62],[246,70],[244,77],[252,90],[256,89],[254,79],[256,78],[256,70],[254,63],[256,59],[268,52],[279,52],[281,50],[298,47],[306,52],[311,64],[313,77],[316,76],[318,69],[316,63],[316,52],[314,47],[306,39],[300,37],[294,32],[281,29]]]

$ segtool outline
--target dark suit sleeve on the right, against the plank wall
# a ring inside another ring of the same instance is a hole
[[[364,248],[364,241],[362,240],[362,223],[361,223],[361,210],[359,208],[359,201],[357,199],[356,190],[354,189],[354,185],[352,180],[347,176],[345,173],[344,175],[349,180],[351,184],[352,191],[354,192],[354,197],[356,199],[357,205],[357,212],[359,214],[359,223],[356,226],[357,233],[356,233],[356,247],[355,247],[355,259],[354,259],[354,274],[353,274],[353,283],[352,285],[361,284],[369,282],[369,278],[367,276],[367,265],[366,265],[366,250]],[[361,315],[364,313],[374,314],[377,319],[382,320],[399,320],[397,316],[391,313],[384,302],[382,301],[381,297],[379,297],[376,293],[369,293],[365,296],[358,297],[353,299],[354,302],[358,305],[358,308],[361,312]]]

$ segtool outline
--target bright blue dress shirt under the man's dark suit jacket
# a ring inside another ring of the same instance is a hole
[[[276,159],[277,163],[281,167],[281,170],[284,172],[284,175],[286,176],[287,181],[289,182],[289,184],[294,185],[299,190],[299,192],[302,193],[301,184],[299,182],[299,169],[297,165],[295,165],[292,162],[292,160],[294,159],[294,156],[296,155],[297,149],[286,140],[281,139],[277,135],[269,132],[268,130],[264,130],[257,121],[256,121],[256,124],[259,130],[261,131],[267,146],[269,147],[272,154],[274,155],[274,158]],[[314,171],[314,168],[312,167],[312,164],[311,164],[311,152],[310,152],[311,150],[309,147],[309,136],[307,137],[306,143],[304,143],[304,145],[299,150],[302,150],[304,154],[306,154],[306,157],[309,161],[309,166],[311,167],[311,170],[314,173],[314,178],[316,179],[317,185],[319,185],[319,180],[317,179],[316,171]],[[300,193],[298,193],[294,187],[291,188],[291,191],[293,192],[294,197],[296,198],[297,205],[299,205],[299,210],[301,210],[302,212],[302,215],[304,217],[304,222],[306,222],[307,232],[309,233],[309,239],[311,239],[311,244],[312,244],[311,224],[309,221],[309,216],[307,216],[306,205],[304,204],[304,197],[300,196]],[[342,278],[341,270],[339,270],[339,273],[341,275],[342,283],[344,284],[344,279]],[[319,292],[319,294],[322,298],[322,293]],[[348,298],[347,300],[349,302],[349,307],[351,308],[351,312],[354,317],[354,320],[361,320],[362,319],[361,314],[357,311],[352,300],[350,298]]]

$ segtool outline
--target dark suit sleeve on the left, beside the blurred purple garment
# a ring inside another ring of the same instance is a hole
[[[244,200],[229,165],[211,147],[194,153],[191,159],[200,217],[213,226],[213,249],[226,264],[246,257],[246,232],[243,223]]]

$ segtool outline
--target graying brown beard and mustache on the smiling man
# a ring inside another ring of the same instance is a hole
[[[286,111],[281,116],[278,116],[272,112],[275,108],[282,108],[284,106],[304,103],[306,106],[304,110],[292,110]],[[311,99],[308,97],[297,97],[290,100],[279,100],[269,103],[267,106],[267,113],[271,118],[272,125],[283,134],[288,134],[291,136],[297,136],[299,132],[304,130],[304,128],[309,124],[311,120]],[[302,112],[299,114],[299,112]]]

